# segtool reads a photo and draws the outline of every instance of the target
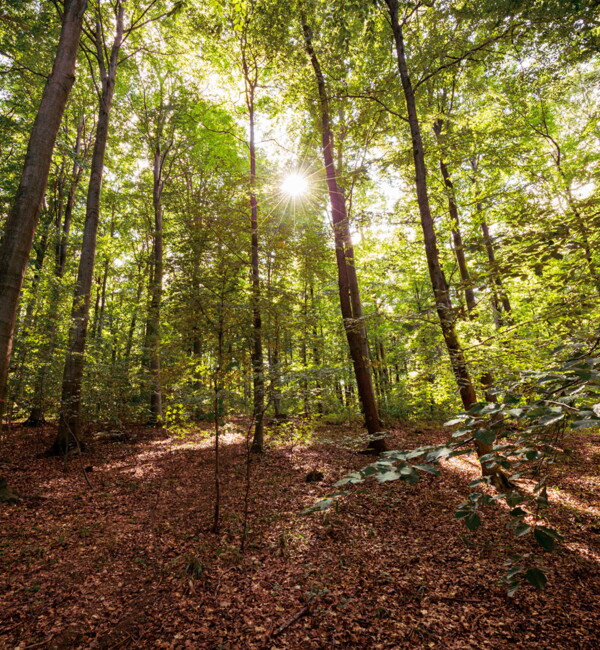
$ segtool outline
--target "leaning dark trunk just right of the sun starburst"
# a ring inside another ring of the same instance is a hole
[[[344,329],[354,366],[360,403],[365,416],[365,426],[370,435],[375,435],[381,432],[382,424],[373,388],[369,347],[363,321],[356,266],[354,264],[354,248],[348,224],[346,199],[337,182],[329,99],[319,59],[313,48],[311,30],[304,17],[302,23],[306,52],[315,73],[319,92],[322,151],[327,175],[329,201],[331,203],[342,318],[344,319]],[[369,448],[375,452],[385,451],[385,440],[383,438],[374,439],[369,444]]]

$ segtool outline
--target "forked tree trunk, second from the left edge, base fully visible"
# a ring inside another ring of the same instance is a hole
[[[100,218],[100,194],[104,173],[104,157],[108,142],[110,111],[115,90],[119,51],[123,40],[123,5],[117,11],[116,34],[110,50],[107,65],[104,62],[104,43],[102,30],[96,26],[96,39],[102,91],[99,101],[96,140],[92,154],[90,181],[86,202],[83,243],[77,283],[73,295],[69,346],[62,383],[62,399],[59,414],[58,434],[49,450],[51,454],[61,454],[80,442],[81,383],[83,379],[84,353],[90,311],[90,295],[96,258],[96,239]]]

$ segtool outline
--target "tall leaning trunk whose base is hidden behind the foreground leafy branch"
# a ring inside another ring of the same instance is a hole
[[[402,25],[398,20],[398,0],[385,0],[385,2],[389,8],[390,22],[396,47],[398,71],[400,74],[402,89],[404,91],[404,98],[406,100],[408,123],[412,137],[417,202],[419,205],[421,227],[425,241],[425,253],[427,256],[429,277],[431,279],[442,335],[446,343],[446,348],[448,349],[460,397],[464,408],[469,409],[477,402],[477,396],[467,368],[462,347],[456,335],[456,329],[454,326],[454,310],[452,309],[446,278],[444,277],[444,272],[440,265],[437,238],[433,225],[433,218],[431,216],[429,194],[427,190],[427,169],[425,166],[425,151],[423,147],[423,139],[421,137],[421,126],[417,113],[414,89],[406,64],[404,34]],[[492,450],[491,445],[483,444],[479,440],[475,441],[475,448],[479,456],[487,454]],[[482,464],[482,473],[484,475],[492,476],[492,480],[497,487],[506,487],[507,480],[497,468],[490,469]]]

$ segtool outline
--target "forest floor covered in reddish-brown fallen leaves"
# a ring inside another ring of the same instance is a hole
[[[368,464],[345,446],[351,427],[272,442],[253,462],[241,553],[242,427],[222,439],[220,534],[210,532],[207,433],[133,427],[65,463],[39,456],[52,426],[14,429],[0,474],[22,501],[0,505],[0,647],[598,647],[597,432],[574,435],[553,469],[549,521],[565,540],[543,558],[547,590],[509,598],[498,579],[518,546],[503,517],[489,512],[476,533],[453,519],[477,476],[468,458],[415,486],[369,484],[338,511],[299,516]],[[392,433],[404,449],[445,436],[427,424]],[[311,470],[323,480],[307,482]]]

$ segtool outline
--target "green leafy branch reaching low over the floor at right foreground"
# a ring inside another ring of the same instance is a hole
[[[481,525],[482,508],[501,502],[508,516],[507,528],[515,538],[521,542],[532,539],[544,551],[552,552],[562,537],[544,525],[542,518],[549,505],[549,470],[564,449],[567,432],[600,426],[600,358],[579,356],[547,372],[524,373],[500,395],[501,401],[480,402],[446,422],[446,426],[461,425],[446,443],[384,452],[376,462],[346,475],[334,487],[363,483],[369,478],[380,483],[402,480],[414,485],[423,473],[439,475],[440,460],[473,453],[471,448],[462,448],[480,440],[492,445],[492,451],[479,461],[490,469],[501,467],[513,488],[492,494],[490,477],[472,481],[469,487],[485,486],[486,491],[472,492],[457,506],[455,518],[475,531]],[[335,492],[303,514],[327,510],[348,494]],[[505,566],[501,583],[511,596],[523,579],[537,589],[547,584],[546,572],[531,551],[511,556]]]

